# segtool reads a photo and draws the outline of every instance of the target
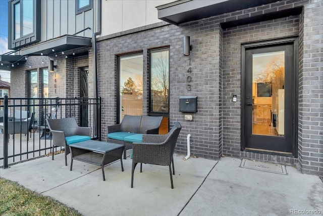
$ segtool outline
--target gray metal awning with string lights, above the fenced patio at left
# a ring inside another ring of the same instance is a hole
[[[58,38],[39,42],[38,44],[21,49],[23,56],[44,56],[60,53],[67,50],[73,50],[81,47],[92,46],[90,37],[80,37],[74,35],[63,35]],[[54,51],[52,51],[54,50]]]

